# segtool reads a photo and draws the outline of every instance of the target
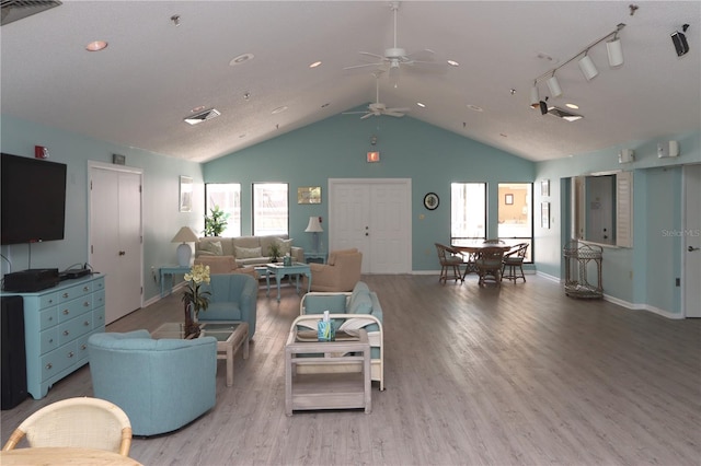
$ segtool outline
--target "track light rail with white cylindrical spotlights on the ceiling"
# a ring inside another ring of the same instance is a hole
[[[609,56],[609,65],[611,67],[620,67],[621,65],[623,65],[623,47],[621,46],[621,39],[618,37],[618,33],[621,32],[623,27],[625,27],[624,23],[617,24],[614,31],[593,42],[591,44],[586,46],[582,51],[579,51],[577,55],[564,61],[559,67],[553,68],[552,70],[549,70],[542,73],[541,75],[539,75],[538,78],[536,78],[536,80],[533,81],[533,86],[531,88],[531,91],[530,91],[530,106],[533,108],[537,108],[538,106],[540,106],[542,110],[543,101],[540,101],[538,97],[538,84],[543,81],[545,81],[545,83],[548,84],[548,89],[550,90],[551,96],[559,97],[562,95],[562,89],[560,88],[560,82],[558,82],[558,78],[555,78],[555,72],[560,68],[571,63],[577,58],[579,58],[579,61],[578,61],[579,69],[582,70],[582,73],[584,74],[587,81],[593,80],[597,74],[599,74],[599,70],[597,70],[596,65],[594,65],[594,61],[591,60],[588,54],[591,47],[602,43],[604,40],[607,40],[612,37],[611,40],[608,40],[606,43],[606,48]]]

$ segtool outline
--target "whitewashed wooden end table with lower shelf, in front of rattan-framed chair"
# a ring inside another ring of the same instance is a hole
[[[354,340],[300,341],[299,321],[319,321],[319,315],[301,315],[295,319],[285,345],[285,413],[309,409],[372,410],[370,393],[370,343],[365,329]],[[354,353],[353,356],[343,356]],[[322,354],[322,356],[320,356]],[[300,364],[343,365],[363,363],[361,372],[298,374]]]

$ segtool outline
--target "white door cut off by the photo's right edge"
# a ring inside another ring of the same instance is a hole
[[[701,317],[701,165],[683,167],[683,313]]]

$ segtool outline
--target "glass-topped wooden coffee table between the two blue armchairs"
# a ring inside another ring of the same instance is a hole
[[[180,322],[166,322],[151,333],[154,339],[186,338],[185,325]],[[233,385],[233,356],[243,346],[243,359],[249,359],[248,322],[206,322],[199,324],[199,337],[217,339],[217,359],[227,360],[227,386]],[[188,337],[188,338],[192,338]]]

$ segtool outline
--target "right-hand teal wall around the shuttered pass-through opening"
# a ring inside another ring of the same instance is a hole
[[[678,158],[658,159],[657,143],[677,140]],[[618,163],[621,149],[634,149],[635,162]],[[562,219],[556,231],[537,226],[538,270],[563,277],[562,248],[570,237],[568,178],[596,172],[624,170],[633,172],[633,247],[604,247],[604,292],[614,300],[664,315],[681,313],[682,238],[666,232],[682,230],[682,166],[701,163],[701,132],[668,135],[646,141],[630,141],[605,150],[577,154],[568,159],[540,162],[536,183],[551,179],[551,211]],[[554,183],[553,183],[554,180]],[[632,275],[632,278],[631,278]]]

